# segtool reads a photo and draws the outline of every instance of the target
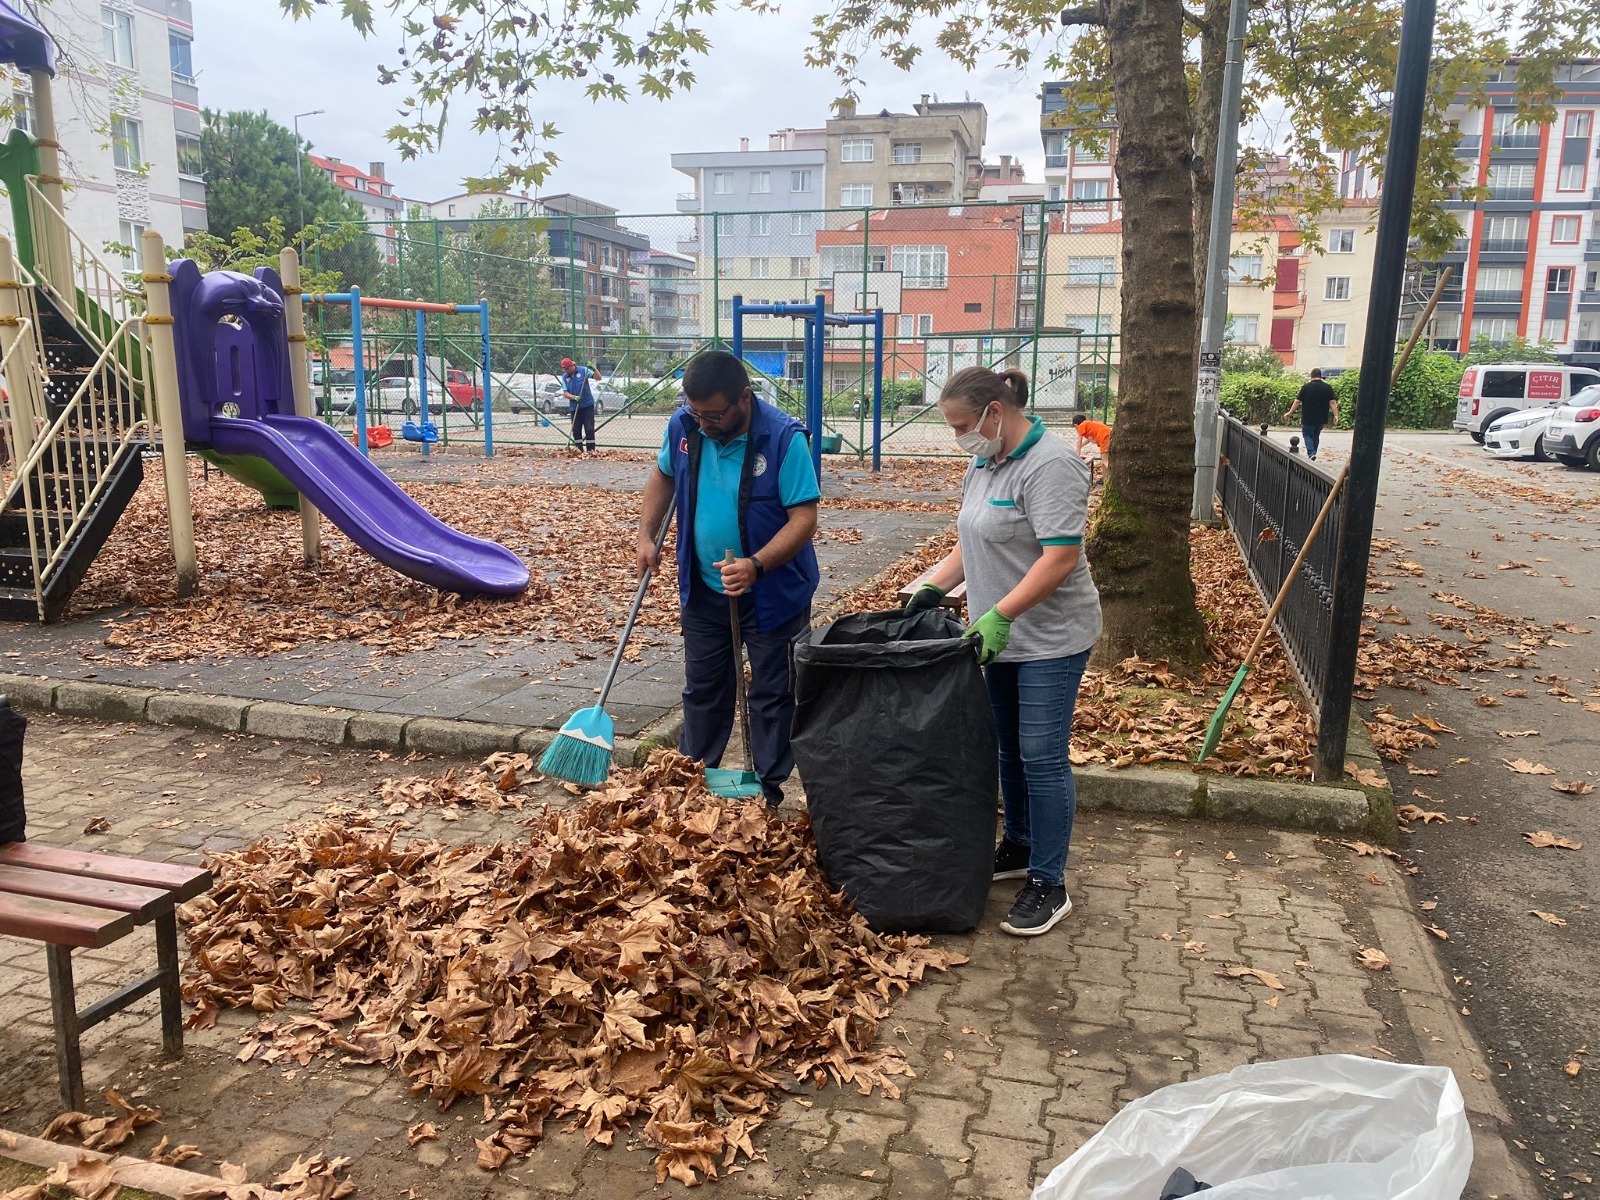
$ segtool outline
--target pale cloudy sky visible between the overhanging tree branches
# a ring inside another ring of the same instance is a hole
[[[301,120],[301,133],[318,154],[365,166],[389,163],[402,195],[437,200],[459,190],[469,174],[483,174],[494,142],[478,138],[462,120],[446,130],[438,155],[402,163],[386,142],[403,93],[378,83],[379,61],[394,64],[398,40],[379,34],[363,40],[334,13],[293,22],[277,0],[195,0],[195,69],[200,99],[213,109],[266,109],[290,125],[296,112],[326,109]],[[699,85],[666,102],[594,104],[576,85],[544,82],[544,115],[562,130],[560,166],[542,190],[578,192],[616,205],[624,213],[670,213],[674,197],[691,189],[672,170],[683,150],[733,150],[739,138],[763,146],[773,130],[821,125],[837,94],[832,72],[808,69],[802,48],[814,0],[794,2],[781,14],[726,11],[707,18],[714,45],[698,64]],[[861,107],[909,109],[928,91],[939,99],[970,93],[989,107],[984,157],[1021,155],[1030,179],[1040,179],[1038,86],[1043,75],[1011,70],[966,74],[938,51],[910,74],[883,64],[867,70]],[[1038,56],[1043,58],[1042,54]]]

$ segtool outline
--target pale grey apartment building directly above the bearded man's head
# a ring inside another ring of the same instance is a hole
[[[827,205],[826,130],[779,130],[762,149],[741,138],[738,150],[674,154],[672,170],[694,182],[677,198],[677,210],[691,218],[677,250],[696,261],[701,315],[715,322],[718,336],[733,333],[736,294],[789,301],[816,291],[816,232]],[[800,349],[794,322],[757,317],[744,333],[752,346],[779,355],[763,360],[762,370],[798,370],[798,358],[784,357]]]

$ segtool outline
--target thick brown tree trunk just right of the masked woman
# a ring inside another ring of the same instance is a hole
[[[1189,574],[1194,490],[1195,250],[1179,0],[1109,0],[1122,128],[1122,366],[1110,472],[1088,539],[1106,611],[1096,661],[1198,662]]]

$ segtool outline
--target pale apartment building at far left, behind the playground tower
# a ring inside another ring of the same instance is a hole
[[[126,269],[147,229],[170,245],[206,227],[190,0],[54,0],[43,22],[62,48],[51,96],[67,216]],[[13,75],[13,125],[34,99]],[[10,206],[0,205],[10,232]]]

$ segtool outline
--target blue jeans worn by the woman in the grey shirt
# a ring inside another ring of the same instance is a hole
[[[1008,842],[1029,848],[1027,874],[1066,880],[1078,789],[1067,749],[1090,651],[984,669],[1000,734],[1000,797]]]

